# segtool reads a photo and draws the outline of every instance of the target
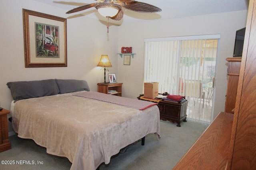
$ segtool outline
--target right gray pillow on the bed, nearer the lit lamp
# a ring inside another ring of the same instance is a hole
[[[79,92],[79,91],[83,91],[83,90],[90,91],[90,88],[85,80],[55,79],[55,81],[60,90],[60,94]]]

